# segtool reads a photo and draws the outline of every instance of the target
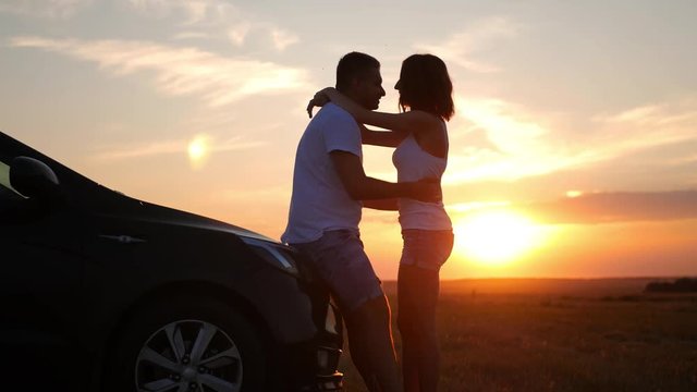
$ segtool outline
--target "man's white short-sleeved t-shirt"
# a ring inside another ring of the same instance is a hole
[[[331,230],[358,230],[363,204],[348,196],[329,152],[346,151],[363,159],[360,130],[348,112],[327,103],[309,122],[295,155],[289,244],[319,240]]]

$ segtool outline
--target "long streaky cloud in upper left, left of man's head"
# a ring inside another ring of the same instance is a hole
[[[93,61],[117,75],[151,71],[161,93],[198,96],[212,107],[257,94],[302,89],[307,84],[304,70],[154,42],[16,37],[11,39],[11,46],[44,49]]]

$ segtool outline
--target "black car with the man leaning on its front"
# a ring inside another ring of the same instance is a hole
[[[0,133],[2,390],[337,391],[295,249],[102,186]]]

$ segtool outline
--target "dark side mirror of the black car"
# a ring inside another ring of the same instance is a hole
[[[38,159],[15,157],[10,163],[10,184],[28,198],[52,200],[60,195],[58,176]]]

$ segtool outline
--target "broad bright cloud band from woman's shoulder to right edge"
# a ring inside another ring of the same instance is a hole
[[[587,128],[575,132],[566,126],[577,122],[573,117],[578,114],[535,112],[502,99],[456,96],[455,100],[457,117],[450,124],[451,151],[443,179],[449,185],[577,172],[600,163],[616,167],[614,161],[647,150],[657,150],[651,157],[657,168],[695,159],[694,151],[675,147],[697,142],[695,99],[596,115]]]

